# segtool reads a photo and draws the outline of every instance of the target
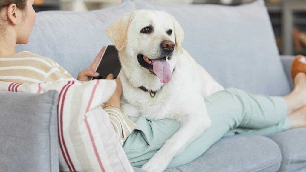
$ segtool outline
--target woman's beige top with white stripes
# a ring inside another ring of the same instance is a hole
[[[0,56],[0,80],[32,84],[57,80],[75,80],[61,65],[50,58],[28,51]],[[110,121],[118,134],[118,140],[124,140],[132,133],[136,125],[121,109],[106,106]]]

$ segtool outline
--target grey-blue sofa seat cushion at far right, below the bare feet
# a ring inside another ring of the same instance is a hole
[[[281,148],[282,164],[279,172],[306,171],[306,128],[290,129],[270,136]]]

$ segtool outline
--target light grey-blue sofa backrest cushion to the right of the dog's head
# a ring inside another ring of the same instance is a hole
[[[137,9],[172,14],[185,31],[182,47],[225,88],[268,95],[289,93],[263,0],[241,6],[134,2]]]

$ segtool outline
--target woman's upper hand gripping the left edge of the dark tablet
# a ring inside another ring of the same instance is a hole
[[[99,76],[98,72],[95,72],[95,69],[98,66],[98,63],[100,62],[100,59],[104,53],[105,50],[105,46],[100,50],[100,52],[98,53],[98,55],[96,56],[95,60],[91,63],[91,65],[86,69],[83,70],[79,73],[77,80],[80,81],[88,81],[91,80],[92,77],[97,77]]]

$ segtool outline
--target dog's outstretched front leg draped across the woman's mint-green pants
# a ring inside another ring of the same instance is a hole
[[[206,111],[206,109],[205,109]],[[181,128],[145,163],[141,169],[148,172],[164,171],[172,158],[189,143],[195,140],[211,125],[207,113],[190,114],[182,121]]]

